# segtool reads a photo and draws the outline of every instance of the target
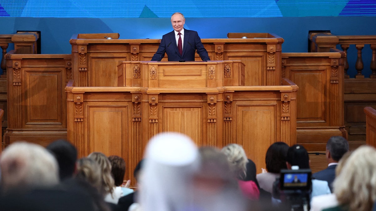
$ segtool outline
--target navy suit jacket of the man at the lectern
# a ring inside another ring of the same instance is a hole
[[[167,53],[168,61],[194,61],[194,54],[200,55],[203,61],[209,61],[208,51],[204,48],[201,39],[196,31],[184,29],[183,53],[180,56],[177,50],[176,38],[174,31],[162,36],[157,52],[154,54],[152,61],[160,61]]]

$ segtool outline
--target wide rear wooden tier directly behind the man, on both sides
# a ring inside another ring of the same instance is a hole
[[[243,62],[246,86],[280,85],[284,40],[268,33],[247,34],[248,39],[202,39],[202,43],[211,60]],[[117,86],[114,66],[122,61],[150,61],[161,42],[160,39],[104,39],[105,36],[110,34],[78,34],[71,38],[73,79],[77,86]],[[162,61],[167,61],[167,56]],[[196,61],[201,61],[197,53]]]

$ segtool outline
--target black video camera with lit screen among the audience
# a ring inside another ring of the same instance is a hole
[[[309,210],[311,175],[311,169],[282,169],[273,184],[273,198],[281,200],[291,210]]]

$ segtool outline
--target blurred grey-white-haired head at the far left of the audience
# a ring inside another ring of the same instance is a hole
[[[16,142],[9,145],[0,159],[3,191],[48,187],[59,182],[55,157],[40,145]]]

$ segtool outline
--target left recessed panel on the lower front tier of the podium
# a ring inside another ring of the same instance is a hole
[[[122,156],[123,147],[127,147],[122,144],[128,134],[127,110],[127,106],[88,107],[89,152]]]

